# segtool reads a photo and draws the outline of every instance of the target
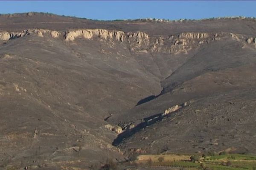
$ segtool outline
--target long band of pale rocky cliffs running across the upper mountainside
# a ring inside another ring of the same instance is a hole
[[[84,38],[86,40],[92,40],[99,38],[100,40],[121,42],[128,44],[131,51],[134,52],[160,52],[160,53],[185,53],[191,50],[193,47],[198,47],[204,43],[210,41],[220,40],[221,38],[235,38],[238,41],[247,42],[248,44],[254,43],[255,38],[232,33],[192,33],[184,32],[181,34],[169,35],[168,37],[159,36],[151,37],[145,32],[123,32],[117,30],[106,29],[76,29],[64,31],[52,31],[48,29],[28,29],[21,32],[0,32],[0,41],[11,40],[14,38],[20,38],[35,34],[38,37],[44,37],[49,35],[52,38],[64,37],[67,42],[75,41],[77,38]]]

